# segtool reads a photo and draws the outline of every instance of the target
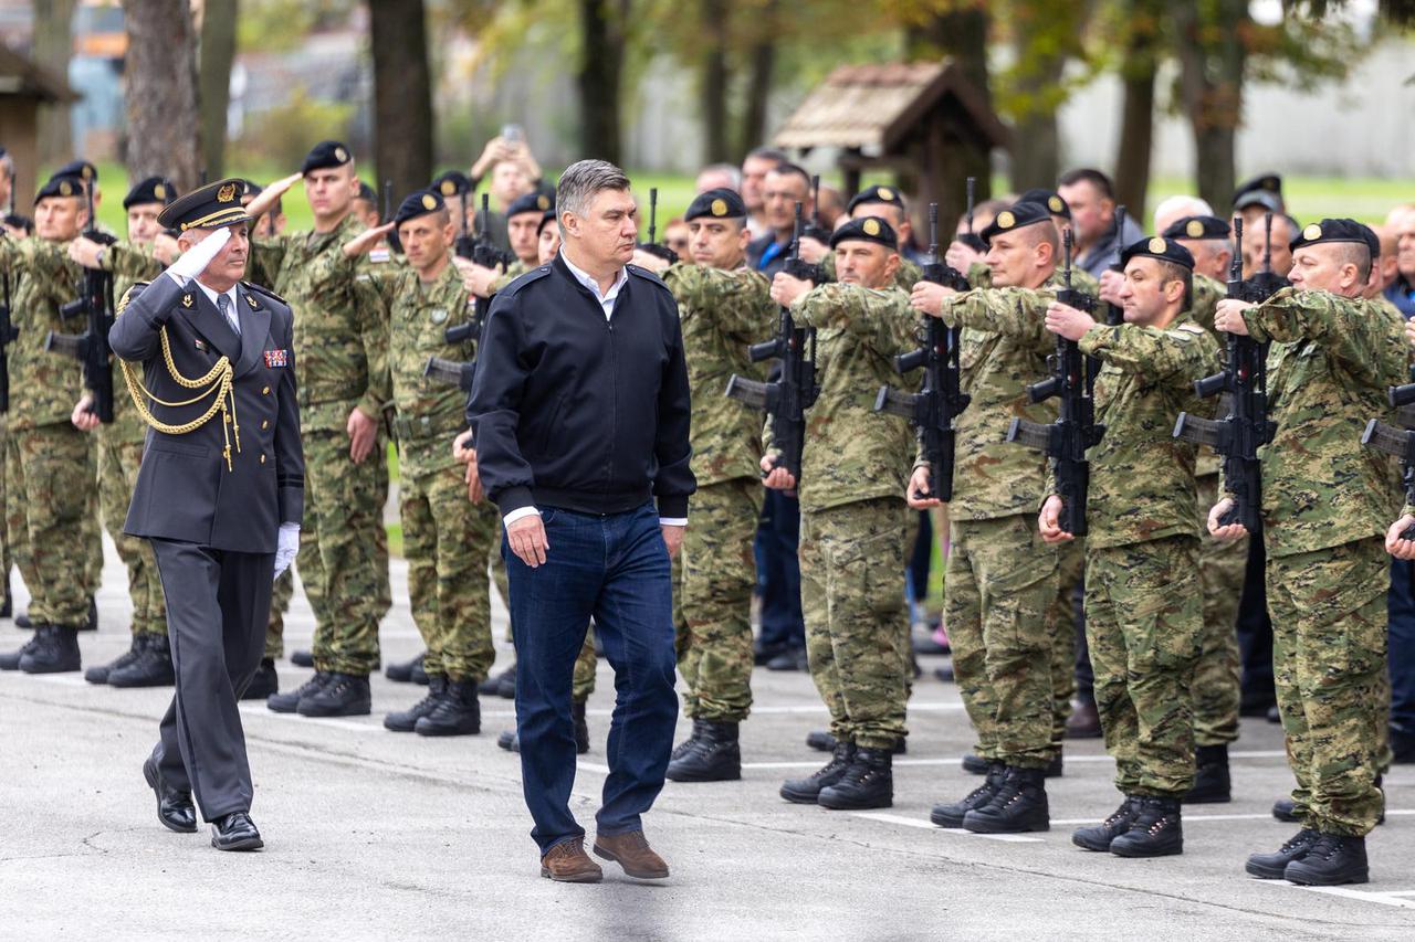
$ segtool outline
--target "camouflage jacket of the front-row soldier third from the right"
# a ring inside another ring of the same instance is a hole
[[[972,274],[972,272],[969,272]],[[972,403],[954,423],[952,519],[988,521],[1036,513],[1046,496],[1046,457],[1007,441],[1013,419],[1047,423],[1056,400],[1033,403],[1027,386],[1047,375],[1056,337],[1044,327],[1061,276],[1037,290],[975,289],[944,303],[944,322],[962,327],[958,365]]]

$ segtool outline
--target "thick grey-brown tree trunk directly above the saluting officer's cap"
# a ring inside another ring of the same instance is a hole
[[[127,173],[197,185],[197,34],[187,0],[123,0]]]

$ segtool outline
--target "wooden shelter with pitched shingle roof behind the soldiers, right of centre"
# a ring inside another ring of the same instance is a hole
[[[962,215],[969,167],[986,167],[1012,132],[982,92],[949,59],[842,65],[831,72],[774,136],[777,147],[841,150],[846,197],[860,174],[889,168],[916,205],[940,204],[940,218]],[[979,197],[988,192],[986,174]]]

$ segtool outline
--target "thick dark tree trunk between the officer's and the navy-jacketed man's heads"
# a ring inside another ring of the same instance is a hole
[[[375,190],[426,187],[433,175],[433,92],[423,0],[369,0]]]

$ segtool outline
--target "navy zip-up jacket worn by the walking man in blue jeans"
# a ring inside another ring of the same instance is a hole
[[[649,495],[686,518],[689,395],[678,303],[627,266],[614,315],[560,256],[497,293],[467,402],[477,468],[509,513],[621,513]]]

